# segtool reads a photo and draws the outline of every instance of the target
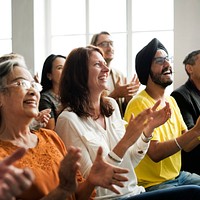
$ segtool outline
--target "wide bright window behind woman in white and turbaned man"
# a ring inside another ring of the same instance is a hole
[[[112,66],[129,79],[136,53],[157,37],[173,56],[173,0],[51,0],[51,52],[68,55],[108,31],[115,46]],[[163,6],[164,5],[164,6]]]

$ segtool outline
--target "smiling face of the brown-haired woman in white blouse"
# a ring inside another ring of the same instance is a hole
[[[107,89],[109,69],[102,55],[93,51],[89,57],[88,88],[90,92],[99,92]]]

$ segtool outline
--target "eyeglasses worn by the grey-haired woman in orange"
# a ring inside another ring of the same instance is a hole
[[[30,90],[31,87],[34,88],[36,91],[41,92],[42,91],[42,85],[40,83],[36,83],[35,81],[30,82],[28,80],[19,80],[14,83],[11,83],[9,85],[6,85],[4,88],[9,87],[23,87],[25,90]]]

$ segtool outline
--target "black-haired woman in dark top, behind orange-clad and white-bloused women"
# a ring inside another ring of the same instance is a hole
[[[60,109],[58,90],[65,59],[65,56],[51,54],[46,58],[42,69],[41,85],[43,89],[41,91],[39,110],[41,111],[47,108],[51,109],[51,118],[49,119],[46,128],[52,130],[55,127]]]

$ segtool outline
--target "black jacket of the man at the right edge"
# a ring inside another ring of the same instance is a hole
[[[188,80],[171,94],[180,108],[183,119],[192,128],[200,115],[200,91]],[[182,170],[200,175],[200,145],[191,152],[182,151]]]

